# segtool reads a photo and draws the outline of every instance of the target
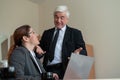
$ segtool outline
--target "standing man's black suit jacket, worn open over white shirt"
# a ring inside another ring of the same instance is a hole
[[[44,31],[40,40],[41,48],[46,51],[43,60],[43,66],[45,69],[49,59],[49,47],[54,35],[54,31],[55,28]],[[83,48],[80,54],[87,55],[85,42],[83,40],[81,31],[67,26],[62,43],[62,64],[64,71],[66,70],[69,61],[68,57],[70,57],[71,53],[79,47]]]

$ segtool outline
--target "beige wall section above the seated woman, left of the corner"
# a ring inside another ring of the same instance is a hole
[[[23,24],[29,24],[40,32],[39,10],[39,5],[28,0],[0,0],[0,33],[12,34],[16,27]]]

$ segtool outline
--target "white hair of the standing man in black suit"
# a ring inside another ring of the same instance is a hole
[[[54,15],[56,12],[66,12],[67,17],[69,18],[69,16],[70,16],[70,13],[68,11],[68,7],[65,5],[57,6],[55,11],[54,11]]]

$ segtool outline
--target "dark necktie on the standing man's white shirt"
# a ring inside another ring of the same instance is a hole
[[[52,61],[54,59],[54,52],[55,52],[55,46],[56,46],[56,42],[57,42],[57,39],[58,39],[58,36],[59,36],[59,31],[60,29],[57,29],[55,35],[54,35],[54,38],[52,40],[52,43],[50,45],[50,48],[49,48],[49,60]]]

